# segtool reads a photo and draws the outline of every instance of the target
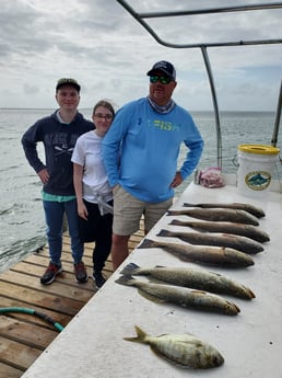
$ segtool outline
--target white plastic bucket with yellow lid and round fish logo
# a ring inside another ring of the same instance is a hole
[[[237,190],[248,197],[261,198],[270,188],[279,148],[266,145],[239,145]]]

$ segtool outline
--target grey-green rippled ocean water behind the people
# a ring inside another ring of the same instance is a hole
[[[0,272],[22,260],[27,253],[46,243],[44,211],[40,201],[42,184],[25,160],[21,137],[36,119],[54,110],[0,108]],[[80,110],[91,118],[91,110]],[[216,131],[212,112],[191,112],[203,139],[204,151],[199,169],[216,167]],[[235,173],[237,147],[240,144],[270,145],[273,112],[223,112],[222,168]],[[281,131],[278,137],[281,141]],[[279,144],[278,144],[279,147]],[[43,147],[38,145],[44,159]],[[185,157],[181,148],[178,165]],[[235,163],[234,163],[235,161]],[[282,180],[281,167],[277,176]],[[187,179],[176,192],[179,195],[192,177]]]

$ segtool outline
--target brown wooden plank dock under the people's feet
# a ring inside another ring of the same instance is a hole
[[[143,231],[130,239],[132,251],[143,238]],[[83,261],[92,277],[93,244],[85,244]],[[70,239],[63,239],[63,272],[51,285],[40,285],[39,277],[49,263],[48,249],[28,254],[26,259],[0,274],[0,308],[24,308],[50,317],[63,328],[75,317],[87,300],[95,295],[93,279],[79,284],[74,279]],[[113,273],[108,260],[103,271],[106,277]],[[0,313],[0,377],[17,378],[34,363],[58,335],[49,322],[22,312]]]

